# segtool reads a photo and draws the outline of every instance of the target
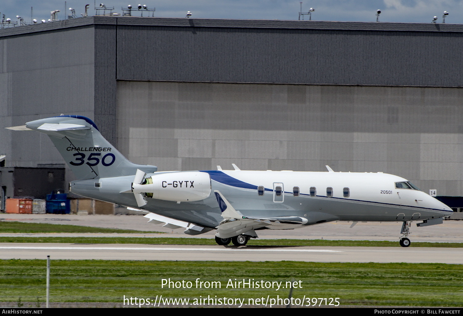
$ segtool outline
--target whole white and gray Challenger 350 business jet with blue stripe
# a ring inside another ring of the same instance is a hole
[[[150,221],[198,235],[214,228],[219,245],[245,245],[258,230],[334,220],[400,221],[408,247],[411,221],[442,224],[452,210],[399,176],[382,172],[162,171],[133,164],[84,116],[61,115],[11,129],[50,136],[79,179],[69,191],[148,213]]]

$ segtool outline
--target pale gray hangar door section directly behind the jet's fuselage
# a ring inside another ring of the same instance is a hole
[[[119,148],[159,170],[383,171],[462,195],[462,89],[119,81]]]

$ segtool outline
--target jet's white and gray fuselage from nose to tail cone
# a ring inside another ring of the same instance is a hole
[[[190,194],[187,190],[193,190],[190,185],[188,188],[174,186],[175,181],[188,180],[191,183],[193,178],[186,177],[190,172],[155,172],[147,175],[152,179],[159,176],[162,181],[159,182],[161,185],[156,186],[153,198],[146,194],[147,204],[143,209],[213,228],[222,218],[218,202],[211,192],[219,190],[244,216],[297,216],[304,219],[301,225],[281,223],[272,225],[270,229],[298,228],[333,220],[425,220],[452,213],[449,207],[422,191],[396,187],[396,183],[407,182],[406,179],[380,172],[206,170],[200,173],[203,174],[200,176],[202,185],[194,188],[196,195],[204,194],[200,201],[182,198],[183,194]],[[210,187],[204,186],[205,175],[210,177]],[[102,184],[97,192],[93,188],[96,179],[72,182],[72,192],[138,207],[133,194],[119,193],[130,188],[132,181],[131,176],[123,178],[101,178],[98,181]],[[152,192],[152,189],[148,191],[152,186],[141,185],[139,192]],[[175,201],[175,196],[178,196],[178,201]]]

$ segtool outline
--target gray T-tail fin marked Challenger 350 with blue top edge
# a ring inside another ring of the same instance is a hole
[[[137,169],[155,172],[156,166],[131,163],[114,148],[89,118],[61,115],[26,123],[50,136],[56,149],[79,180],[134,175]]]

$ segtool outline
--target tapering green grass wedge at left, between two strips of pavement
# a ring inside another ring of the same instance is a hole
[[[0,233],[158,233],[157,231],[135,231],[117,228],[101,228],[77,225],[22,223],[0,221]]]

